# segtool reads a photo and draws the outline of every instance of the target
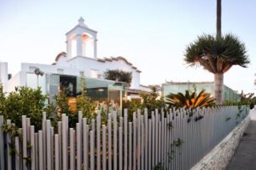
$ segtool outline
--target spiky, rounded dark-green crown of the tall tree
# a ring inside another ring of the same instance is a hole
[[[190,66],[200,64],[213,74],[224,74],[234,65],[247,67],[250,62],[244,43],[232,34],[218,38],[198,36],[194,43],[187,46],[184,60]]]

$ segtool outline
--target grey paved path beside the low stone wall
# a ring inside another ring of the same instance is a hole
[[[228,170],[256,169],[256,113],[251,114],[251,119],[236,153],[228,165]]]

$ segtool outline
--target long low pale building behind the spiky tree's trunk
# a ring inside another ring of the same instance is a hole
[[[197,91],[206,90],[211,96],[215,96],[214,82],[166,82],[162,85],[162,94],[165,97],[169,93],[185,93],[186,90],[193,90],[194,87],[197,88]],[[237,101],[239,99],[237,91],[226,85],[223,86],[224,101]]]

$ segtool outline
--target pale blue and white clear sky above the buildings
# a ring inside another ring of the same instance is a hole
[[[255,6],[254,0],[222,2],[222,32],[239,36],[251,61],[224,75],[224,84],[238,91],[256,92]],[[0,61],[11,74],[22,62],[53,63],[81,16],[98,32],[98,57],[126,57],[142,70],[143,85],[213,81],[206,70],[188,67],[184,52],[198,35],[215,35],[216,0],[0,0]]]

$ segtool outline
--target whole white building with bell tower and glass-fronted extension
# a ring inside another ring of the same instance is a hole
[[[122,99],[129,98],[129,95],[138,98],[140,91],[150,91],[150,88],[140,85],[141,71],[124,57],[98,57],[97,41],[97,32],[88,28],[81,17],[79,23],[66,33],[66,52],[59,53],[53,64],[22,63],[20,72],[10,80],[6,79],[7,63],[1,65],[0,78],[5,83],[5,91],[13,91],[17,86],[39,86],[53,100],[53,96],[65,88],[72,97],[70,101],[74,101],[74,97],[79,94],[81,74],[87,77],[88,93],[100,104],[121,106]],[[44,74],[37,76],[36,69]],[[114,69],[132,72],[128,89],[122,82],[104,79],[104,72]]]

